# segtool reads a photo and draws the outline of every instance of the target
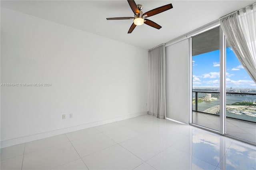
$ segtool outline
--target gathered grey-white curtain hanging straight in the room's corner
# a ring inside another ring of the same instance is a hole
[[[149,95],[148,114],[166,118],[165,44],[148,50]]]

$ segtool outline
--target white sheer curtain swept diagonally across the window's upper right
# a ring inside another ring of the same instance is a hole
[[[220,18],[220,26],[240,63],[256,83],[256,2]]]

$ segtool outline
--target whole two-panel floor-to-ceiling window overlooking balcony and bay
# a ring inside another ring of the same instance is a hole
[[[256,143],[256,84],[220,37],[219,27],[192,37],[192,124]],[[220,71],[221,65],[226,70]],[[226,75],[225,85],[220,84],[220,73]],[[225,119],[220,91],[226,94]],[[220,126],[222,120],[225,126]]]

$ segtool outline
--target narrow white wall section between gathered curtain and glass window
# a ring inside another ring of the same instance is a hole
[[[188,39],[166,47],[166,117],[189,123],[190,57]]]

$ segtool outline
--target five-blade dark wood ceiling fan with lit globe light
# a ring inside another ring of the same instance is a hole
[[[133,19],[134,22],[132,23],[132,26],[130,27],[128,34],[132,33],[132,31],[134,30],[134,28],[136,26],[140,26],[144,23],[159,30],[160,28],[162,28],[160,25],[158,25],[155,22],[148,20],[146,18],[173,8],[172,4],[167,4],[167,5],[164,5],[164,6],[161,6],[161,7],[158,7],[153,10],[143,13],[142,12],[143,6],[141,4],[137,5],[134,0],[127,0],[127,1],[132,9],[132,12],[134,13],[134,17],[117,17],[117,18],[106,18],[106,19],[107,20],[130,20],[130,19]]]

